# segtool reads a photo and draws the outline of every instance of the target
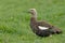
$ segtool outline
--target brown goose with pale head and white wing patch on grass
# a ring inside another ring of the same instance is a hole
[[[36,9],[30,9],[29,13],[31,14],[30,28],[34,31],[34,33],[36,33],[37,35],[49,37],[51,34],[54,34],[54,33],[58,34],[62,32],[58,28],[56,28],[46,22],[38,22]]]

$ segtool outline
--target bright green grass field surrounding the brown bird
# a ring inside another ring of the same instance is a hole
[[[27,13],[31,8],[37,9],[38,20],[63,33],[42,39],[32,33]],[[0,43],[65,43],[65,0],[0,0]]]

